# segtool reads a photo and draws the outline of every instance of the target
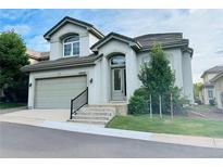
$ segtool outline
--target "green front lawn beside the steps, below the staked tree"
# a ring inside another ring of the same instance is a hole
[[[175,116],[174,120],[171,120],[170,116],[160,119],[158,115],[153,115],[152,119],[149,118],[149,115],[115,116],[107,125],[107,128],[223,138],[223,121],[203,120],[186,116]]]

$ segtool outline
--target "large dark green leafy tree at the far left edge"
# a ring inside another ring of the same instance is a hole
[[[25,52],[26,47],[20,35],[14,31],[0,34],[0,89],[16,91],[23,87],[25,75],[20,68],[29,64]]]

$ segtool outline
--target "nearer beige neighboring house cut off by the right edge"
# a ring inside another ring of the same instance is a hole
[[[214,86],[215,102],[219,108],[223,108],[223,70],[210,80]]]

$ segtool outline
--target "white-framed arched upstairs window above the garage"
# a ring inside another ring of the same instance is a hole
[[[63,40],[63,56],[79,55],[79,36],[73,35]]]

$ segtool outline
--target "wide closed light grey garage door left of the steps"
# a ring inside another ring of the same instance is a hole
[[[71,99],[86,87],[86,76],[37,79],[35,108],[70,108]]]

